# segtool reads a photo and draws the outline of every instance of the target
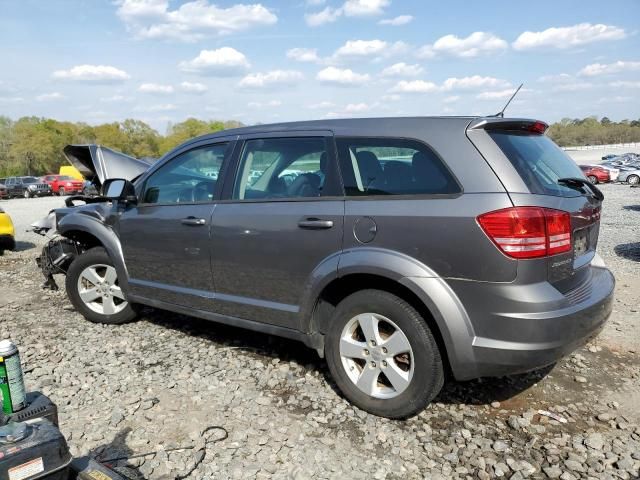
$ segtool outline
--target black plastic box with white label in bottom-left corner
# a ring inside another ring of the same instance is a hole
[[[2,429],[7,435],[0,435],[0,480],[68,479],[71,454],[53,423],[41,418]]]

